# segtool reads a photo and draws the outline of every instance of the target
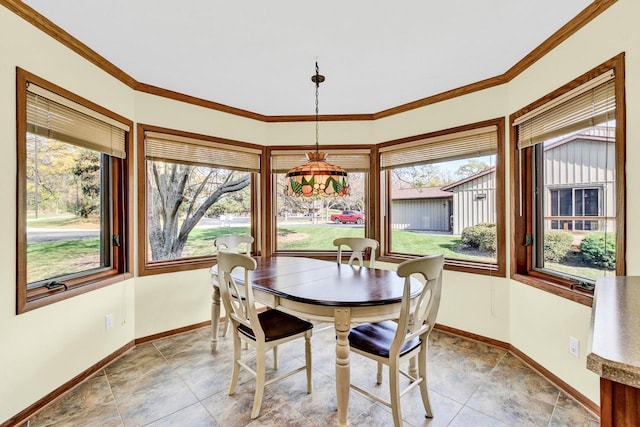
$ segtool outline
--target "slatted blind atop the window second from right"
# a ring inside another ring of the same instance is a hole
[[[390,169],[424,165],[486,156],[497,151],[498,127],[485,126],[383,147],[380,149],[380,166]]]

